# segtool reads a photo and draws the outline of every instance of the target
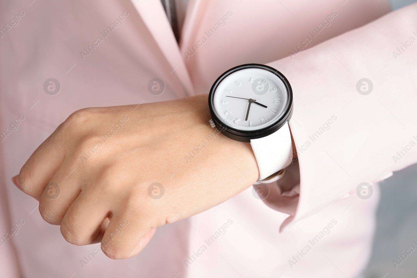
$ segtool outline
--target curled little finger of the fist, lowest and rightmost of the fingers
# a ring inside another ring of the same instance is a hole
[[[109,258],[117,260],[136,255],[155,233],[148,220],[152,210],[141,208],[136,214],[133,213],[125,210],[125,213],[113,215],[101,240],[101,249]]]

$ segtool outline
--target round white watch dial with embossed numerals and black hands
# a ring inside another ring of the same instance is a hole
[[[213,110],[226,126],[260,130],[284,115],[288,101],[281,78],[268,70],[245,68],[219,83],[213,95]]]

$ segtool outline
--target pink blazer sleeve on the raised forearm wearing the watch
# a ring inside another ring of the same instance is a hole
[[[269,65],[294,94],[291,220],[417,162],[417,4]]]

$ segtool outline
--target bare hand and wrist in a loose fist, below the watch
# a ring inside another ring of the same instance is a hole
[[[211,128],[207,103],[199,95],[78,110],[13,180],[68,242],[101,241],[108,257],[131,257],[156,227],[212,208],[259,177],[249,143]]]

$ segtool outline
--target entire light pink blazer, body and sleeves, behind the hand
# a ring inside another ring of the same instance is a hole
[[[417,162],[416,150],[397,163],[392,158],[417,135],[413,114],[417,46],[397,59],[392,54],[409,37],[416,37],[417,5],[379,18],[389,8],[377,0],[344,4],[193,0],[178,48],[158,0],[0,3],[3,25],[20,10],[25,13],[0,38],[0,132],[19,115],[25,117],[18,130],[0,143],[0,185],[7,192],[1,198],[0,235],[20,219],[25,221],[0,246],[1,277],[18,277],[20,271],[24,277],[36,278],[278,277],[281,273],[281,278],[342,277],[342,273],[350,278],[362,270],[379,199],[374,182]],[[125,10],[123,24],[83,59],[80,52]],[[228,11],[232,15],[224,20],[226,25],[206,36],[191,57],[186,55]],[[332,11],[337,15],[308,43],[310,49],[291,58],[293,48]],[[221,73],[243,63],[269,63],[291,82],[290,127],[299,149],[299,196],[281,195],[270,184],[271,196],[262,201],[249,188],[188,222],[158,228],[133,258],[114,261],[100,253],[83,267],[80,260],[97,246],[67,243],[58,226],[40,217],[37,201],[11,183],[23,161],[75,109],[208,93]],[[57,95],[44,92],[48,78],[59,80],[62,88]],[[166,84],[162,95],[148,93],[152,78]],[[371,94],[357,92],[361,78],[372,80]],[[331,128],[300,150],[332,115],[337,120]],[[362,182],[374,184],[372,198],[349,196]],[[228,228],[221,234],[225,223]],[[216,232],[219,237],[207,246],[205,240]],[[324,236],[312,246],[309,240],[320,232]],[[207,249],[201,251],[202,245]],[[305,251],[306,245],[311,250]],[[194,252],[201,254],[196,257]],[[298,252],[306,253],[301,257]]]

